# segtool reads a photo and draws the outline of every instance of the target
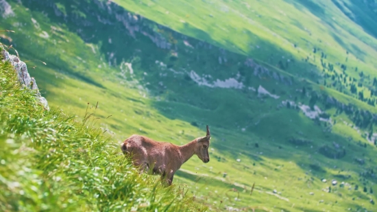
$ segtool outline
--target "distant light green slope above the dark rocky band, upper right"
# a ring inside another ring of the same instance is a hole
[[[371,75],[371,79],[376,77],[374,70],[377,63],[373,55],[377,54],[377,40],[376,34],[370,33],[371,30],[374,32],[371,25],[375,25],[376,21],[368,16],[370,14],[362,12],[360,8],[363,8],[363,4],[359,2],[114,2],[182,34],[251,56],[273,66],[276,66],[279,60],[284,62],[287,58],[294,59],[297,61],[296,66],[289,67],[286,71],[315,82],[320,80],[322,83],[324,80],[321,52],[327,56],[324,62],[335,64],[336,73],[342,73],[340,64],[345,64],[348,67],[346,73],[352,78],[360,80],[360,71]],[[354,19],[366,20],[367,23],[358,25],[350,19],[345,11],[347,7],[354,12],[353,16],[358,17]],[[313,48],[317,49],[316,54],[313,54]],[[303,62],[306,57],[308,62]],[[337,62],[340,64],[336,65]],[[317,68],[313,69],[308,63],[316,64]],[[358,67],[358,71],[354,70],[355,67]],[[326,73],[334,74],[328,71]],[[365,88],[372,85],[371,79],[363,81],[363,87],[358,89],[364,92],[365,97],[369,97],[369,91]],[[350,82],[347,81],[347,84]],[[349,85],[347,90],[350,90]]]

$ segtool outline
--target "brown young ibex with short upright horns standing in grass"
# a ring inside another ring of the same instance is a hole
[[[132,163],[141,172],[160,174],[161,180],[165,179],[167,185],[171,185],[175,172],[194,154],[204,163],[210,161],[209,145],[210,130],[207,125],[206,137],[199,137],[186,145],[178,146],[172,143],[158,142],[134,134],[125,139],[121,145],[121,150],[124,154],[130,154]]]

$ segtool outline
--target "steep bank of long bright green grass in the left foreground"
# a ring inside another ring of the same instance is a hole
[[[32,89],[21,85],[12,66],[19,58],[0,50],[0,211],[203,210],[139,176],[119,145],[90,126],[90,114],[77,121],[46,110],[35,80]],[[26,66],[22,73],[24,81]]]

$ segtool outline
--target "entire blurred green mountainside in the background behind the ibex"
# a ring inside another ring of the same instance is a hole
[[[98,101],[93,124],[116,143],[210,126],[210,163],[174,181],[208,210],[374,208],[372,1],[1,2],[15,33],[0,42],[51,108],[82,119]]]

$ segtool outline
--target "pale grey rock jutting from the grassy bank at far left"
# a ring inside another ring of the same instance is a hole
[[[19,78],[19,82],[23,89],[26,88],[36,90],[36,97],[38,98],[39,102],[43,105],[45,110],[49,110],[49,104],[47,103],[45,97],[40,95],[36,80],[30,77],[29,72],[27,72],[25,62],[22,62],[17,56],[9,54],[8,51],[5,51],[3,46],[0,46],[0,49],[1,55],[3,56],[3,60],[1,60],[1,62],[9,61],[17,73],[17,77]]]

